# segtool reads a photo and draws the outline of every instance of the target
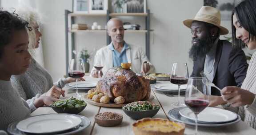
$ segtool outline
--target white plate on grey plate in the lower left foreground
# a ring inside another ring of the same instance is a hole
[[[87,117],[73,114],[45,114],[11,123],[11,135],[73,135],[91,124]]]

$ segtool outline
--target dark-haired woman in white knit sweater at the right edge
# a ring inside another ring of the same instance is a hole
[[[256,0],[244,0],[234,8],[232,25],[234,47],[256,49]],[[224,87],[221,94],[228,102],[224,108],[235,111],[245,123],[256,129],[256,52],[241,88]]]

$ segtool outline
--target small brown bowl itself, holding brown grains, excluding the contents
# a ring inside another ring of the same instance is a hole
[[[97,114],[99,115],[99,114]],[[123,121],[123,115],[121,115],[121,118],[119,119],[111,119],[111,120],[105,120],[105,119],[100,119],[98,117],[96,117],[97,115],[95,115],[94,119],[95,122],[99,125],[99,126],[103,126],[103,127],[114,127],[117,125],[120,125]]]

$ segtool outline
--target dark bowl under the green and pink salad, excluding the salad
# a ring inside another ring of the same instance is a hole
[[[154,110],[149,110],[149,111],[128,111],[125,110],[124,107],[122,107],[122,110],[126,115],[131,117],[132,119],[142,119],[142,118],[148,118],[148,117],[153,117],[157,114],[160,108],[154,109]]]

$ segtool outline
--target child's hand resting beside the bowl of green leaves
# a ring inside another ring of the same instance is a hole
[[[44,105],[50,105],[56,101],[58,101],[59,99],[56,98],[52,98],[49,96],[40,96],[38,99],[36,99],[33,103],[35,105],[36,108],[38,107],[43,107]]]

